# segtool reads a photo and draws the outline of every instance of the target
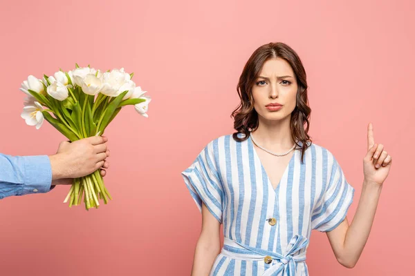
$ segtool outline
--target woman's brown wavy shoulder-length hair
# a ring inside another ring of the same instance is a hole
[[[291,137],[295,141],[297,148],[298,141],[302,141],[302,161],[304,161],[304,152],[308,148],[308,143],[312,143],[308,135],[308,128],[310,126],[309,118],[311,108],[308,106],[307,97],[307,81],[306,70],[302,65],[297,53],[288,45],[282,42],[265,44],[255,52],[245,64],[242,70],[237,91],[241,102],[239,106],[232,112],[231,117],[234,118],[234,132],[232,137],[235,141],[244,141],[248,139],[250,132],[258,128],[258,113],[254,108],[254,98],[252,97],[252,86],[261,72],[262,66],[268,59],[281,58],[285,59],[293,68],[295,79],[297,79],[297,104],[291,112]],[[304,124],[306,127],[304,129]],[[242,133],[242,137],[238,137],[238,133]]]

